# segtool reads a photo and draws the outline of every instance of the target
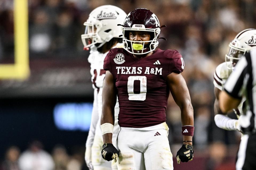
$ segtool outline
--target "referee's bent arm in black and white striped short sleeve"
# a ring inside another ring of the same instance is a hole
[[[249,54],[250,55],[250,54]],[[219,107],[223,113],[237,108],[242,100],[242,86],[248,73],[248,62],[245,56],[237,62],[234,71],[224,85],[224,91],[219,96]]]

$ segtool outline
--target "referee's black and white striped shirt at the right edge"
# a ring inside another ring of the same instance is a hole
[[[241,57],[224,90],[234,98],[246,97],[246,112],[239,118],[246,133],[256,132],[256,50]]]

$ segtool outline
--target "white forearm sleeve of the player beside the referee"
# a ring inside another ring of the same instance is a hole
[[[214,116],[215,124],[225,130],[239,130],[239,123],[236,119],[231,119],[227,115],[216,114]]]

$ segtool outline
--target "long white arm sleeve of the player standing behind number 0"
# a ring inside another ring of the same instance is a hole
[[[90,125],[90,130],[89,134],[87,136],[86,140],[86,147],[91,147],[93,145],[93,139],[95,135],[95,129],[97,122],[99,120],[99,114],[98,114],[98,89],[94,89],[94,100],[93,100],[93,111],[91,114],[91,125]]]

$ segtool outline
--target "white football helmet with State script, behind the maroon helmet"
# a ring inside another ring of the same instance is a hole
[[[126,13],[113,5],[103,5],[95,8],[89,15],[85,25],[85,34],[81,35],[84,49],[101,43],[97,48],[101,47],[112,38],[119,38],[122,35],[121,28],[117,24],[123,23]]]

